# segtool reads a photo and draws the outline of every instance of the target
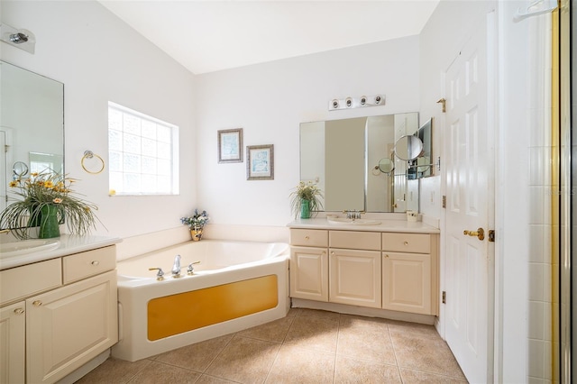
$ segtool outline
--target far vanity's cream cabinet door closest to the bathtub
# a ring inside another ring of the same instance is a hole
[[[290,249],[290,297],[328,301],[326,248]]]

